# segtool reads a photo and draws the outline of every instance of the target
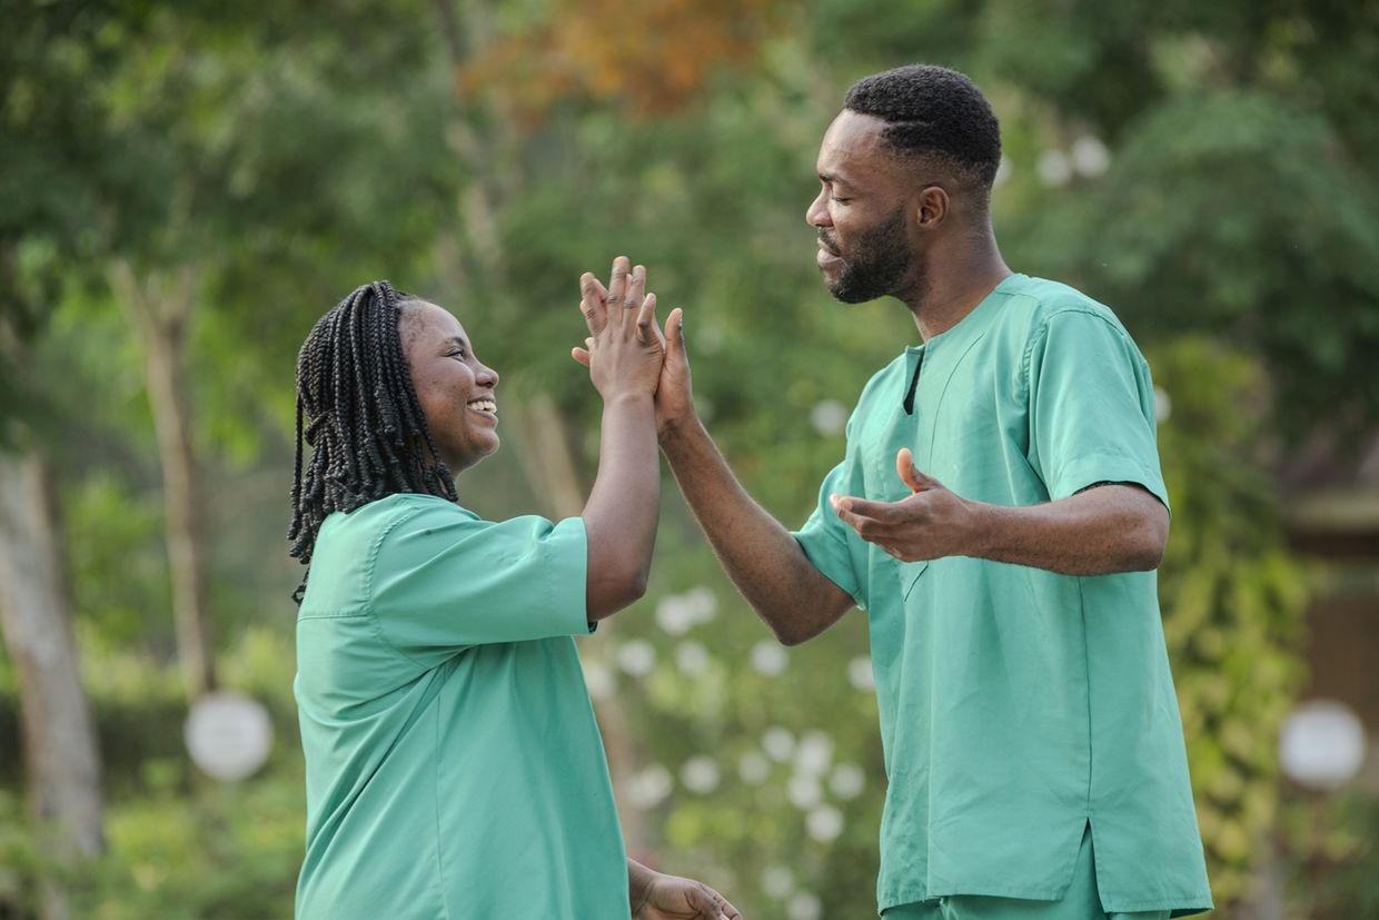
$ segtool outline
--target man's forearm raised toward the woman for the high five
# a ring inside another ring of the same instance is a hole
[[[801,643],[852,607],[747,495],[696,418],[665,432],[661,447],[723,570],[776,639]]]

